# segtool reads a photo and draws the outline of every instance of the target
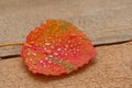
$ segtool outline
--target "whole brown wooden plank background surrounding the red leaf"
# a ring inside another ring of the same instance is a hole
[[[132,0],[0,0],[0,44],[24,42],[45,19],[70,21],[94,44],[132,37]],[[132,88],[132,42],[96,48],[89,65],[63,77],[32,75],[21,57],[0,61],[0,88]]]

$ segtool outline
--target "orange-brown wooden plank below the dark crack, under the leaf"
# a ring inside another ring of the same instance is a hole
[[[62,77],[33,75],[21,57],[0,61],[0,88],[132,88],[132,42],[97,52],[89,65]]]

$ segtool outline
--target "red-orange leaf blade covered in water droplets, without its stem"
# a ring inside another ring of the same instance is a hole
[[[86,35],[68,22],[47,20],[26,37],[21,56],[32,73],[59,76],[82,67],[96,55]]]

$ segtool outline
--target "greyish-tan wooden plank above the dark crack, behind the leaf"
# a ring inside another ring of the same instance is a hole
[[[132,38],[131,15],[131,0],[1,0],[0,44],[25,42],[29,32],[46,19],[72,22],[95,45],[127,41]],[[20,50],[1,48],[0,56],[20,54]]]

